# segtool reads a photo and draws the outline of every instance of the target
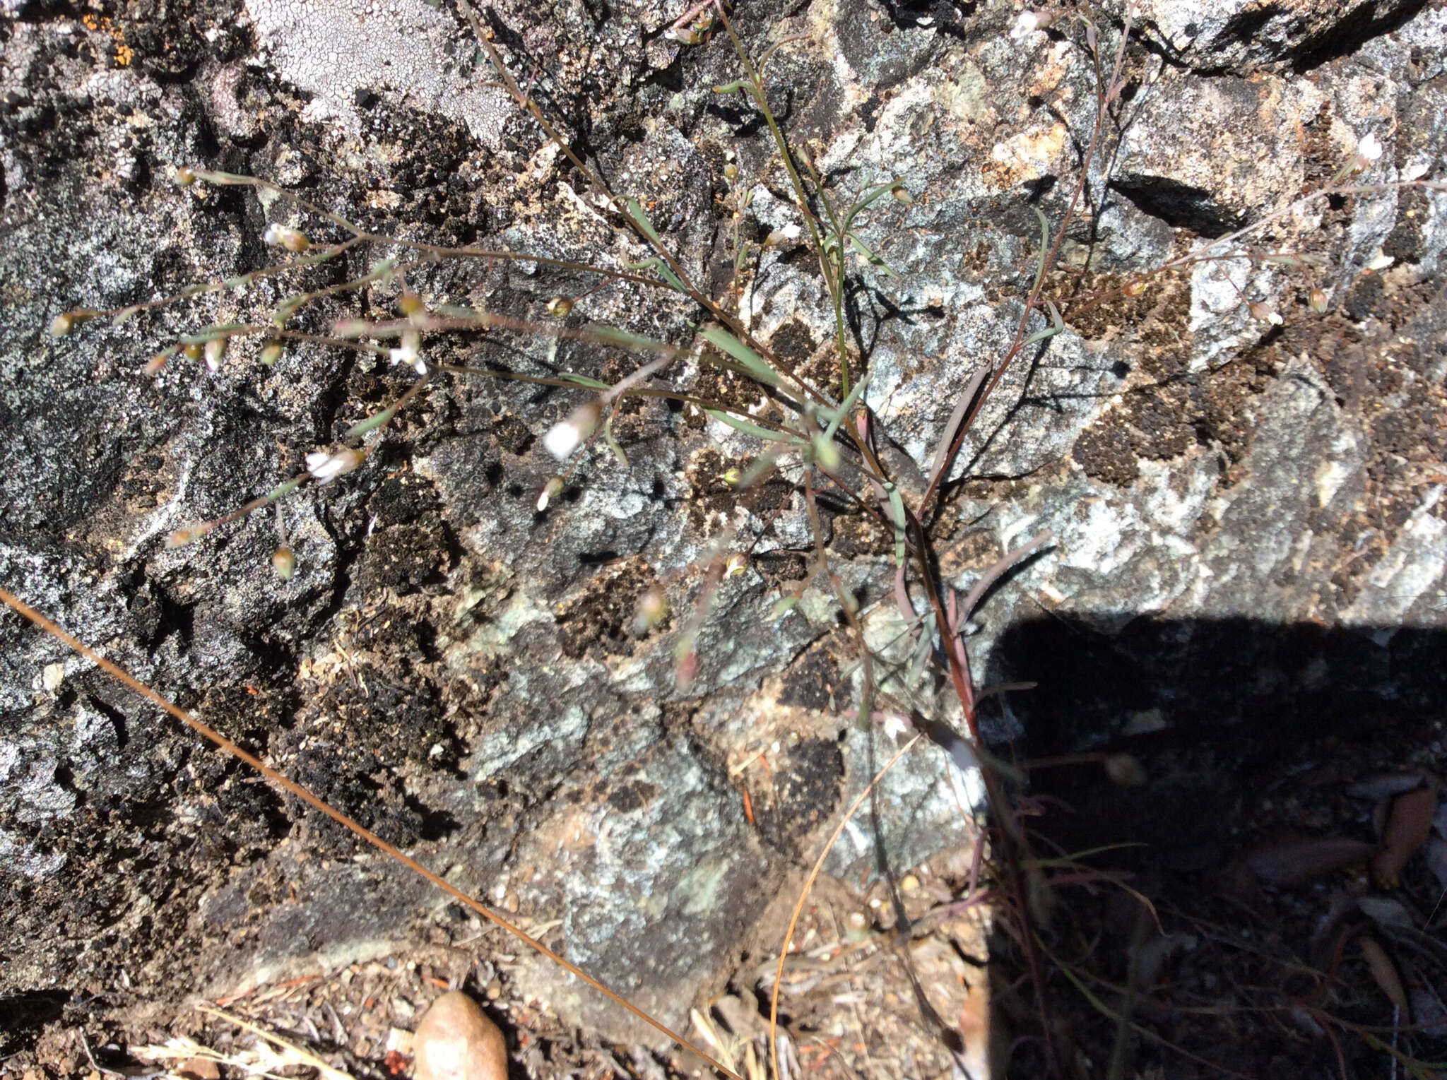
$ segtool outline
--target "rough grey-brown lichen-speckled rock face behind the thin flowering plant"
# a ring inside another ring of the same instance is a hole
[[[674,9],[640,0],[605,19],[585,0],[509,0],[488,26],[519,78],[543,72],[538,101],[650,207],[713,295],[731,285],[735,228],[755,252],[784,237],[755,256],[739,311],[831,383],[831,314],[812,256],[787,239],[787,178],[755,116],[712,91],[738,77],[728,39],[664,38]],[[1292,688],[1328,698],[1336,671],[1367,711],[1440,701],[1440,665],[1422,658],[1441,655],[1447,626],[1447,197],[1301,197],[1367,133],[1385,146],[1369,179],[1443,176],[1447,13],[1305,4],[1253,25],[1242,4],[1158,9],[1146,4],[1107,153],[1046,282],[1068,330],[1007,374],[936,526],[941,571],[959,588],[1035,531],[1058,538],[983,609],[969,639],[981,682],[1088,674],[1101,655],[1139,671],[1192,639],[1207,642],[1189,653],[1198,664],[1250,646],[1226,680],[1270,691],[1237,698],[1231,719],[1247,727]],[[252,341],[216,373],[182,360],[140,373],[179,334],[269,311],[288,295],[273,280],[190,312],[43,333],[71,307],[263,266],[266,223],[302,221],[242,189],[178,189],[177,162],[269,176],[379,234],[611,266],[644,247],[483,85],[449,4],[363,14],[143,0],[77,19],[13,0],[4,13],[0,581],[450,880],[559,921],[569,956],[684,1022],[732,976],[789,869],[812,862],[893,753],[842,716],[852,645],[819,583],[770,617],[812,538],[789,484],[741,500],[724,481],[757,444],[658,399],[631,403],[616,425],[629,467],[590,448],[538,513],[557,468],[541,435],[577,395],[446,377],[360,470],[284,505],[298,571],[282,581],[269,515],[181,549],[165,535],[300,470],[405,370],[313,347],[262,369]],[[1011,35],[1017,14],[813,0],[787,16],[739,3],[734,16],[755,53],[802,36],[770,61],[770,100],[838,197],[891,178],[910,192],[860,230],[900,276],[860,263],[849,298],[867,402],[906,492],[923,487],[975,364],[1009,344],[1037,267],[1032,205],[1059,221],[1094,123],[1082,30],[1062,16]],[[1108,48],[1117,30],[1103,27]],[[1092,302],[1272,214],[1253,243],[1324,263],[1202,260]],[[368,265],[357,253],[318,283]],[[593,280],[463,260],[420,265],[408,283],[434,305],[543,318],[550,298]],[[1325,315],[1305,304],[1312,285]],[[1253,318],[1243,296],[1282,322]],[[394,302],[373,288],[305,325],[383,317]],[[677,298],[611,285],[570,325],[686,344],[693,317]],[[1033,318],[1032,331],[1045,325]],[[509,334],[428,338],[427,354],[602,379],[637,364]],[[670,379],[739,392],[697,357]],[[825,509],[838,573],[888,653],[904,630],[893,539],[844,505]],[[680,691],[673,645],[725,522],[757,545],[722,584],[699,675]],[[634,604],[655,583],[671,616],[634,636]],[[1253,659],[1279,627],[1292,627],[1291,656]],[[27,1016],[236,992],[379,956],[444,920],[425,886],[10,614],[0,648],[0,998],[33,1005]],[[1174,671],[1129,701],[1042,680],[1033,703],[1010,695],[985,723],[1000,739],[1048,726],[1042,745],[1075,747],[1200,732],[1221,700],[1202,706]],[[917,691],[949,719],[943,694]],[[1075,723],[1056,730],[1052,708],[1075,708]],[[857,885],[881,853],[899,870],[965,843],[961,807],[977,788],[938,749],[916,750],[829,872]],[[644,1037],[557,974],[530,979],[577,1022]]]

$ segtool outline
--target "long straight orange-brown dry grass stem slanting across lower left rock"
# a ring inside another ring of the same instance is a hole
[[[411,856],[404,854],[399,849],[396,849],[392,844],[386,843],[386,840],[383,840],[382,837],[376,836],[375,833],[368,831],[360,824],[357,824],[356,821],[353,821],[352,818],[349,818],[346,814],[343,814],[340,810],[333,808],[330,804],[324,802],[317,795],[313,795],[310,791],[307,791],[307,788],[301,787],[300,784],[297,784],[292,779],[288,779],[287,776],[282,776],[279,772],[276,772],[276,769],[271,768],[269,765],[266,765],[265,762],[262,762],[255,755],[247,753],[246,750],[243,750],[240,746],[237,746],[236,743],[233,743],[226,736],[220,734],[214,729],[211,729],[207,724],[204,724],[200,720],[197,720],[194,716],[191,716],[191,713],[188,713],[187,710],[181,708],[181,706],[172,703],[169,698],[162,697],[159,693],[156,693],[155,690],[152,690],[150,687],[148,687],[145,682],[142,682],[140,680],[137,680],[130,672],[124,671],[123,668],[117,667],[116,664],[111,664],[109,659],[106,659],[104,656],[101,656],[98,652],[96,652],[94,649],[91,649],[88,645],[85,645],[84,642],[81,642],[81,640],[72,638],[71,635],[68,635],[65,630],[62,630],[54,622],[51,622],[43,614],[41,614],[39,612],[36,612],[33,607],[30,607],[29,604],[26,604],[23,600],[17,599],[9,590],[0,588],[0,600],[3,600],[6,603],[6,606],[10,607],[16,614],[20,614],[25,619],[29,619],[32,623],[35,623],[36,626],[39,626],[48,635],[51,635],[52,638],[55,638],[61,643],[67,645],[68,648],[74,649],[77,653],[80,653],[85,659],[88,659],[93,664],[96,664],[101,671],[104,671],[111,678],[117,680],[119,682],[124,684],[130,690],[136,691],[137,694],[140,694],[148,701],[159,706],[161,708],[164,708],[165,711],[168,711],[171,716],[174,716],[177,720],[179,720],[181,723],[184,723],[187,727],[190,727],[191,730],[194,730],[197,734],[200,734],[204,739],[216,743],[220,749],[226,750],[229,755],[232,755],[237,760],[242,760],[246,765],[249,765],[253,769],[256,769],[256,772],[259,772],[262,776],[265,776],[266,779],[269,779],[276,787],[282,788],[284,791],[287,791],[291,795],[295,795],[302,802],[305,802],[307,805],[310,805],[313,810],[320,810],[323,814],[326,814],[327,817],[330,817],[333,821],[336,821],[339,826],[341,826],[343,828],[346,828],[349,833],[360,837],[368,844],[370,844],[376,850],[382,852],[389,859],[401,863],[402,866],[405,866],[412,873],[415,873],[415,875],[418,875],[421,878],[425,878],[428,882],[431,882],[433,885],[436,885],[438,889],[441,889],[443,892],[446,892],[449,896],[451,896],[457,902],[464,904],[466,907],[472,908],[473,911],[476,911],[479,915],[482,915],[485,920],[488,920],[489,922],[492,922],[499,930],[505,930],[508,934],[512,934],[515,938],[518,938],[519,941],[522,941],[528,948],[534,950],[540,956],[547,957],[548,960],[551,960],[553,963],[556,963],[559,967],[564,969],[570,974],[577,976],[585,983],[587,983],[589,986],[592,986],[595,990],[598,990],[599,993],[602,993],[608,999],[611,999],[611,1000],[616,1002],[618,1005],[621,1005],[622,1008],[625,1008],[628,1012],[631,1012],[634,1016],[637,1016],[638,1019],[641,1019],[644,1024],[650,1025],[651,1028],[654,1028],[660,1034],[667,1035],[670,1040],[673,1040],[679,1045],[692,1050],[700,1058],[703,1058],[705,1061],[708,1061],[713,1068],[718,1068],[721,1073],[724,1073],[725,1076],[732,1077],[734,1080],[742,1080],[742,1077],[739,1077],[738,1073],[735,1073],[731,1068],[726,1068],[724,1064],[721,1064],[716,1058],[713,1058],[706,1051],[699,1050],[696,1045],[693,1045],[686,1038],[683,1038],[676,1031],[673,1031],[669,1025],[663,1024],[658,1019],[654,1019],[647,1012],[644,1012],[642,1009],[640,1009],[637,1005],[631,1005],[629,1002],[624,1000],[619,995],[616,995],[615,992],[609,990],[606,986],[603,986],[601,982],[598,982],[593,976],[590,976],[587,972],[585,972],[577,964],[569,963],[561,956],[559,956],[557,953],[554,953],[551,948],[548,948],[547,946],[544,946],[541,941],[538,941],[537,938],[525,934],[521,928],[512,925],[511,922],[508,922],[508,920],[502,918],[501,915],[498,915],[496,912],[493,912],[486,905],[478,902],[476,899],[473,899],[472,896],[469,896],[466,892],[463,892],[462,889],[459,889],[456,885],[447,883],[446,880],[443,880],[440,876],[437,876],[436,873],[433,873],[431,870],[428,870],[425,866],[423,866],[420,862],[417,862]],[[906,747],[906,749],[909,749],[909,747]],[[896,756],[896,760],[897,759],[899,759],[899,756]],[[890,765],[893,765],[893,763],[894,762],[891,760]],[[888,766],[886,766],[886,769],[887,768]],[[851,808],[851,814],[854,811]]]

